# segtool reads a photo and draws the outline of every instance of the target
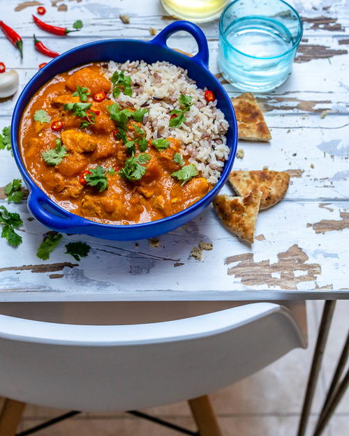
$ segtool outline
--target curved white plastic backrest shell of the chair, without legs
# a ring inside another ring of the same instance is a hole
[[[117,326],[0,315],[0,394],[63,409],[141,409],[209,393],[304,346],[274,303]]]

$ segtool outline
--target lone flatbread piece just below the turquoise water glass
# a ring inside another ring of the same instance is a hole
[[[269,141],[272,139],[260,105],[253,93],[245,92],[241,96],[232,98],[232,105],[237,116],[239,140]]]

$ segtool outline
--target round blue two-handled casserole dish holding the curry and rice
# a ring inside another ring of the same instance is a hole
[[[198,43],[198,54],[194,57],[187,57],[184,54],[170,49],[166,45],[168,38],[177,31],[187,31]],[[127,60],[135,61],[144,59],[147,63],[156,61],[168,61],[176,66],[188,70],[188,76],[195,80],[198,87],[207,87],[214,92],[217,98],[217,106],[225,115],[229,123],[227,133],[227,144],[230,147],[229,159],[225,162],[221,178],[205,197],[188,207],[184,211],[176,213],[161,220],[151,221],[135,225],[107,225],[95,223],[74,213],[70,213],[58,206],[41,190],[31,176],[28,174],[19,147],[19,129],[22,113],[31,100],[34,93],[40,89],[54,75],[64,73],[67,70],[82,66],[90,62]],[[38,71],[23,89],[20,98],[17,100],[13,112],[11,126],[11,140],[13,154],[22,177],[29,189],[28,208],[31,214],[40,223],[57,232],[88,234],[102,239],[113,239],[116,241],[133,241],[152,236],[158,236],[184,225],[202,212],[221,190],[225,180],[228,178],[232,163],[237,150],[237,122],[232,103],[216,77],[212,75],[207,66],[209,62],[209,49],[205,34],[200,27],[191,22],[177,21],[165,27],[158,36],[151,41],[112,39],[101,40],[94,43],[80,45],[61,56],[53,59],[44,68]]]

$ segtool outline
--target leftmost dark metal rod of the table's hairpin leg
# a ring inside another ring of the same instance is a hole
[[[299,422],[299,428],[297,433],[298,436],[304,436],[306,432],[306,425],[309,420],[311,404],[313,403],[315,387],[316,387],[316,383],[318,382],[322,357],[324,354],[325,345],[327,343],[329,326],[331,326],[331,321],[332,321],[332,316],[334,313],[335,306],[336,306],[335,300],[325,301],[325,306],[322,311],[322,318],[321,318],[319,332],[318,332],[318,339],[316,341],[315,351],[313,354],[313,363],[311,364],[311,371],[309,374],[308,385],[306,386],[306,395],[304,398],[302,415],[301,415],[301,420]]]

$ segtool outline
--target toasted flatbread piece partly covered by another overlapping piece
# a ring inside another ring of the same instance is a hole
[[[267,209],[279,203],[285,195],[288,183],[290,183],[290,174],[269,170],[232,171],[228,181],[241,197],[244,197],[253,189],[260,190],[262,192],[260,209]]]

